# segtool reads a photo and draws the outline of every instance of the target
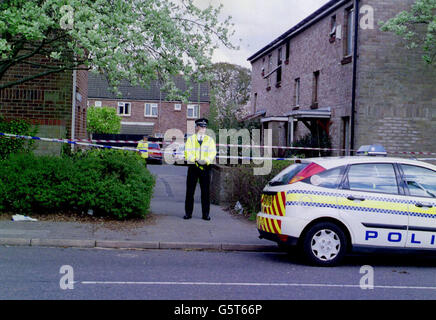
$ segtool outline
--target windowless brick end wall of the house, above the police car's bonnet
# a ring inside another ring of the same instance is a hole
[[[380,143],[392,151],[436,150],[436,70],[418,49],[408,50],[379,30],[414,0],[363,0],[374,8],[375,28],[360,31],[356,146]]]

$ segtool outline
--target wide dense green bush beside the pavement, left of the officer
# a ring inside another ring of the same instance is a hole
[[[29,214],[92,209],[96,216],[145,217],[154,184],[134,153],[13,154],[0,165],[0,210]]]

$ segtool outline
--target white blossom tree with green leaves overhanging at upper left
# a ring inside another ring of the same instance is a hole
[[[121,80],[147,86],[160,80],[176,93],[173,76],[207,79],[214,49],[230,41],[222,6],[200,9],[193,0],[3,0],[0,2],[0,89],[73,69],[104,73],[116,90]],[[42,55],[53,63],[38,64]],[[38,69],[7,82],[17,64]],[[180,93],[180,92],[178,92]]]

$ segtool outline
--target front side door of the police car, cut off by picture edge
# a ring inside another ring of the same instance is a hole
[[[414,165],[400,167],[409,205],[406,246],[436,249],[436,172]]]

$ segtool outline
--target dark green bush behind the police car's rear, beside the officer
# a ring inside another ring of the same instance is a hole
[[[232,168],[228,177],[229,181],[227,181],[233,190],[230,195],[231,203],[234,205],[236,201],[239,201],[244,211],[248,212],[250,219],[253,220],[261,210],[260,199],[266,184],[292,163],[291,161],[273,161],[272,170],[268,175],[254,175],[253,165]]]

